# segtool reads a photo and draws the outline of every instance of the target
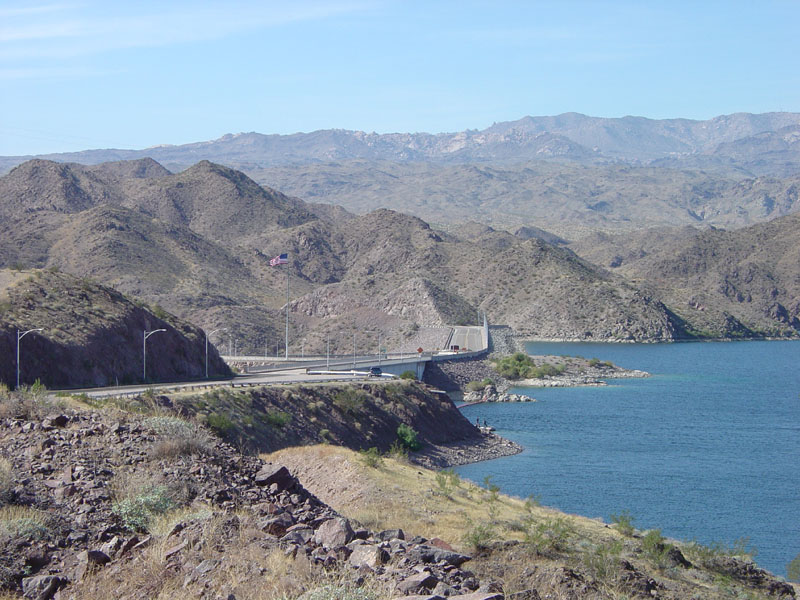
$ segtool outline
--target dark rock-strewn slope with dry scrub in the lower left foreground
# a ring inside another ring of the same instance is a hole
[[[377,600],[438,585],[464,600],[502,598],[459,568],[469,556],[344,519],[285,467],[174,414],[15,400],[0,398],[4,591],[277,599],[328,589]]]

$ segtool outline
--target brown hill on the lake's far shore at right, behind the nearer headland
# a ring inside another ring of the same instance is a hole
[[[800,330],[800,218],[736,231],[693,228],[595,236],[572,247],[634,280],[710,337]]]

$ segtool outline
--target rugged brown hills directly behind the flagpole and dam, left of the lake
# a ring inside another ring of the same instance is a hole
[[[322,352],[330,334],[334,352],[349,352],[351,331],[366,348],[383,335],[413,350],[426,327],[477,323],[479,309],[545,337],[683,335],[658,302],[535,230],[459,238],[391,210],[317,217],[210,163],[164,175],[150,161],[32,161],[0,178],[0,198],[0,265],[90,276],[207,330],[226,327],[254,354],[283,337],[285,270],[295,352]],[[290,264],[270,267],[280,252]]]

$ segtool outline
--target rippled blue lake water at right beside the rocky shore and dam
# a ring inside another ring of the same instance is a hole
[[[652,373],[606,387],[516,388],[536,403],[463,409],[521,444],[458,467],[505,493],[640,529],[732,543],[779,574],[800,553],[800,342],[529,343],[529,354],[597,357]]]

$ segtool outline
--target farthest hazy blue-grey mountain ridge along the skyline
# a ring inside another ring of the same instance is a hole
[[[293,135],[228,134],[207,142],[144,150],[86,150],[38,158],[98,164],[150,157],[173,171],[210,160],[244,171],[350,160],[393,162],[572,161],[582,164],[665,161],[680,168],[719,168],[786,175],[800,164],[800,113],[737,113],[707,121],[599,118],[578,113],[525,117],[458,133],[366,133],[321,130]],[[765,158],[765,155],[768,155]],[[0,173],[33,158],[1,157]]]

